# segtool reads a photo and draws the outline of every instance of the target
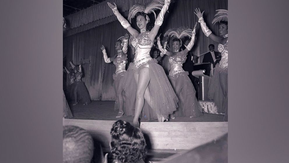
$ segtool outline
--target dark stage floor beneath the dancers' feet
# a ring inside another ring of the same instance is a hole
[[[72,105],[69,107],[73,114],[71,119],[90,119],[90,120],[123,120],[132,123],[132,116],[123,116],[122,118],[115,118],[118,111],[114,111],[114,101],[91,101],[89,105]],[[224,115],[216,115],[204,113],[203,116],[197,118],[176,117],[170,119],[168,122],[223,122]],[[141,122],[157,122],[157,120],[141,119]]]

